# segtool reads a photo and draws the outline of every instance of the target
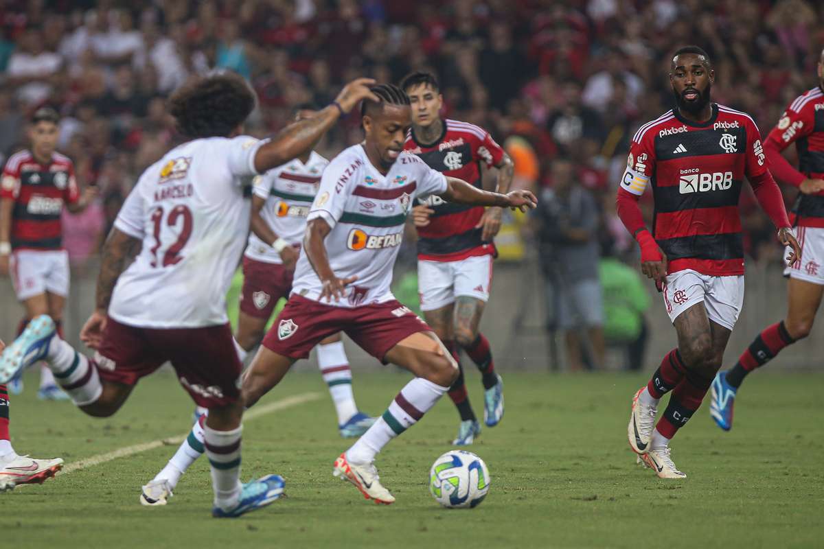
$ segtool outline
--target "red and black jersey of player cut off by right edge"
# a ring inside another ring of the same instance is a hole
[[[795,143],[798,171],[812,179],[824,179],[824,91],[820,86],[799,95],[789,104],[770,135],[770,145],[783,151]],[[799,193],[790,221],[797,226],[824,226],[824,193]]]

